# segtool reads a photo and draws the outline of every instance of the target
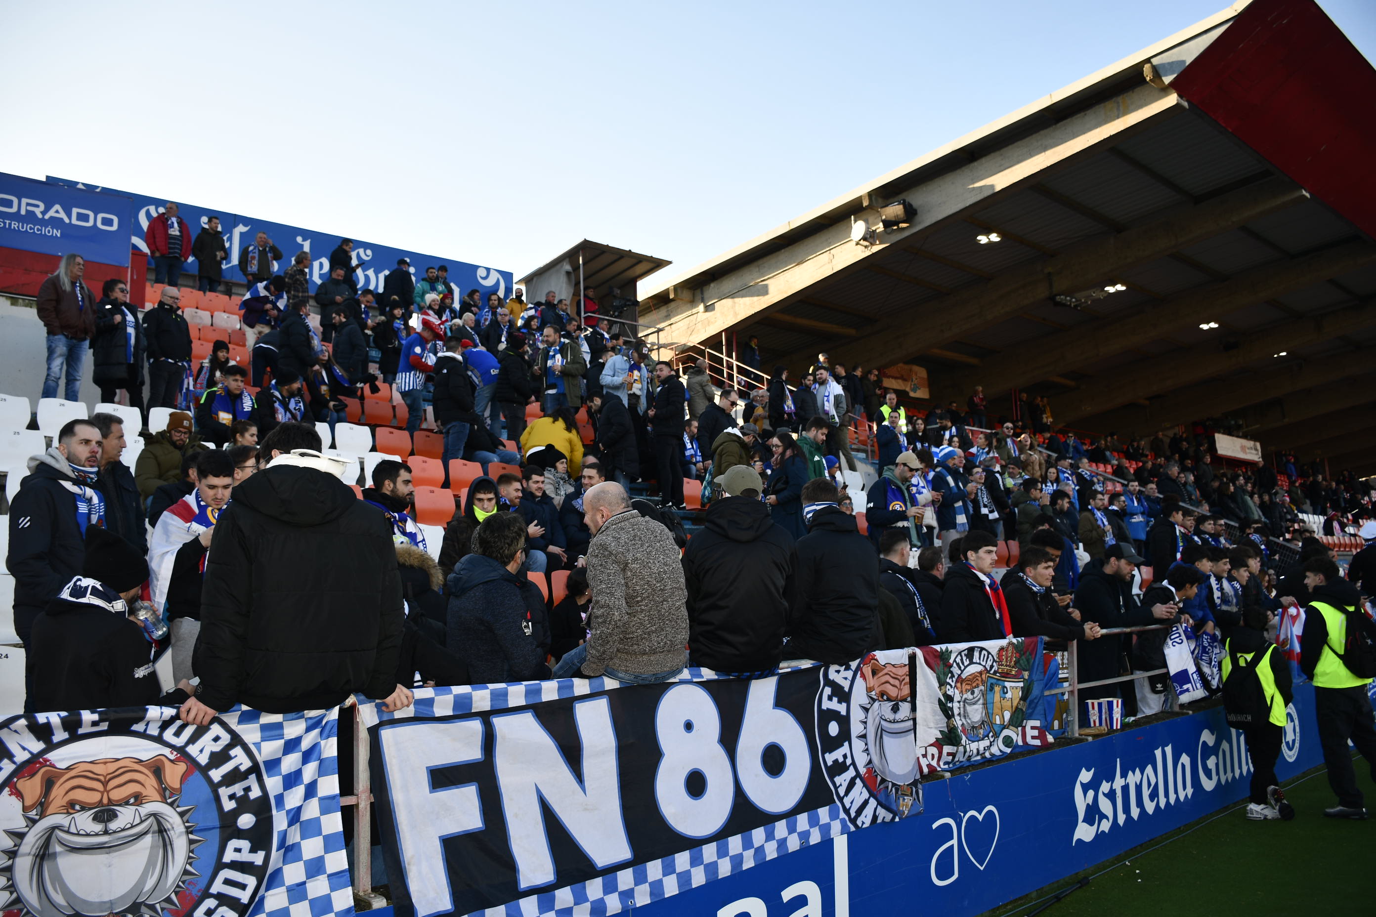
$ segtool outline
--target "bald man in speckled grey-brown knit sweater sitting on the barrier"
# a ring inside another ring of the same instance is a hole
[[[583,494],[588,588],[597,604],[588,642],[570,650],[555,678],[607,675],[652,685],[687,663],[688,609],[678,546],[658,520],[630,506],[626,489],[604,481]]]

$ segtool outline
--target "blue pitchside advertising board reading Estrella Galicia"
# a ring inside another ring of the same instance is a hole
[[[1322,763],[1314,689],[1287,711],[1276,773]],[[1245,800],[1222,707],[923,784],[921,815],[850,830],[637,906],[645,917],[978,914]],[[1241,818],[1237,814],[1236,818]],[[896,902],[908,902],[897,905]]]

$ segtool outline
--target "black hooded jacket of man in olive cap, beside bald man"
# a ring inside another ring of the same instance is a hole
[[[682,565],[691,664],[738,674],[779,665],[798,551],[769,507],[749,496],[716,500]]]

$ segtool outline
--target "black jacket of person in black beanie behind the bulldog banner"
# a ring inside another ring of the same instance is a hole
[[[66,583],[63,583],[66,586]],[[100,605],[55,598],[33,623],[29,665],[34,709],[105,709],[160,703],[143,630]],[[180,704],[186,692],[169,692]]]

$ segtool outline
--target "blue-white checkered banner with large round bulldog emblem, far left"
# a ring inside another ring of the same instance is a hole
[[[337,711],[0,720],[0,910],[352,914]]]

